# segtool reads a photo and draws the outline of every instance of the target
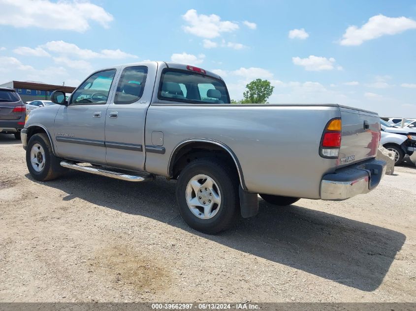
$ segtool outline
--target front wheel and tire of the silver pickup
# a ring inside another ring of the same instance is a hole
[[[32,160],[35,162],[33,165]],[[31,137],[26,148],[26,164],[34,179],[47,181],[59,177],[68,170],[61,167],[60,162],[61,159],[53,154],[51,143],[46,134],[39,133]]]

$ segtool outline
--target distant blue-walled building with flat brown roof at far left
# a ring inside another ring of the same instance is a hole
[[[72,86],[51,85],[33,81],[10,81],[0,84],[0,86],[14,88],[19,93],[23,102],[30,102],[32,100],[49,100],[53,91],[72,93],[75,90],[75,87]]]

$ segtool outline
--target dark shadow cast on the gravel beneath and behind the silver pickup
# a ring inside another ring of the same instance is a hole
[[[32,177],[27,174],[28,178]],[[188,227],[175,202],[175,182],[157,178],[135,184],[82,172],[41,183],[60,189],[64,200],[81,198],[184,229],[235,250],[284,264],[363,291],[383,281],[406,236],[297,205],[276,207],[259,198],[259,213],[212,236]]]

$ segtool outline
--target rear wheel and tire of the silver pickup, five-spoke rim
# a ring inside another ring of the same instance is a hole
[[[230,228],[240,215],[238,186],[235,168],[225,161],[217,158],[192,161],[181,171],[176,185],[176,200],[182,218],[193,229],[207,234]],[[201,196],[196,197],[196,193]],[[196,204],[192,205],[194,202]],[[211,210],[211,213],[205,214],[205,210]]]

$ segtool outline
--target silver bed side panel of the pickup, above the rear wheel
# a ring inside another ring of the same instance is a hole
[[[145,140],[163,132],[166,152],[147,153],[146,170],[167,176],[181,141],[211,139],[235,153],[249,191],[319,198],[321,177],[336,167],[337,159],[319,155],[323,129],[334,117],[340,112],[332,106],[152,104]]]

